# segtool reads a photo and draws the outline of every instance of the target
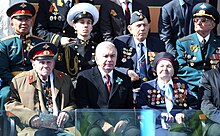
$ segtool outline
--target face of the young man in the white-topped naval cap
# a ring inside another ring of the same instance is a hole
[[[80,37],[89,37],[92,31],[92,20],[90,18],[81,18],[73,24],[77,35]]]

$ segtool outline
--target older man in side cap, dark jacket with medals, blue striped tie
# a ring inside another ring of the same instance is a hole
[[[155,78],[151,62],[155,54],[166,51],[162,41],[148,35],[149,29],[149,19],[135,11],[128,26],[132,35],[118,36],[113,41],[118,50],[116,66],[131,77],[135,88],[140,87],[141,82]],[[141,67],[140,64],[144,65]]]

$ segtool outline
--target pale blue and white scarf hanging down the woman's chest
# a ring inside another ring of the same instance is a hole
[[[166,85],[165,89],[165,103],[167,112],[169,113],[173,109],[173,89],[170,84]]]

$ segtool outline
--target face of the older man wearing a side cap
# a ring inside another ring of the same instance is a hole
[[[148,36],[150,24],[145,18],[142,21],[135,22],[128,26],[128,30],[140,42],[144,41]]]

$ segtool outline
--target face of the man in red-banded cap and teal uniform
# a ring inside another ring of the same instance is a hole
[[[26,35],[30,33],[32,23],[33,21],[31,18],[21,18],[21,19],[12,18],[11,19],[12,28],[14,29],[16,33],[21,34],[21,35]]]

